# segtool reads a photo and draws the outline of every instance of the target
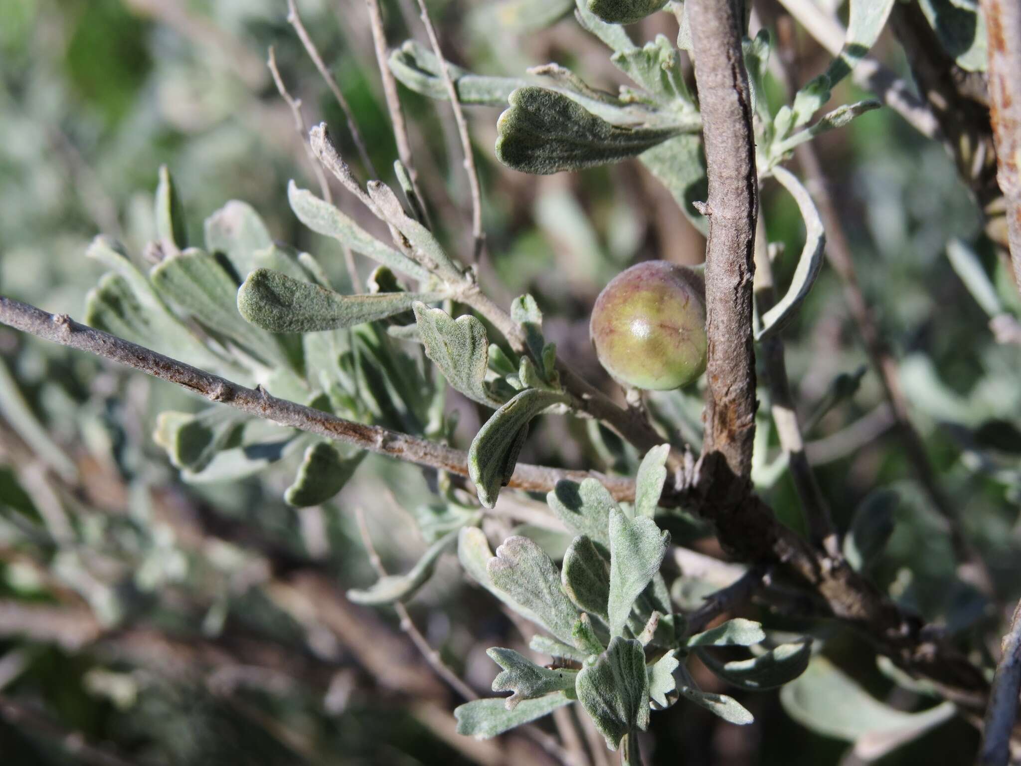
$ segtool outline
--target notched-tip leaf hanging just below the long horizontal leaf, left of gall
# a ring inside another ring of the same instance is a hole
[[[415,303],[412,308],[426,354],[447,382],[480,404],[499,408],[502,402],[486,384],[489,339],[485,326],[469,315],[451,319],[441,308],[430,308],[425,303]]]

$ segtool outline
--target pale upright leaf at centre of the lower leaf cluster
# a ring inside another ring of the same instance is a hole
[[[622,635],[631,608],[652,576],[660,571],[670,545],[670,533],[651,519],[628,519],[610,512],[610,632]]]

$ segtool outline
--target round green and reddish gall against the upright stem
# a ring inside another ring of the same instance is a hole
[[[648,260],[617,275],[589,324],[599,363],[633,388],[667,391],[706,371],[706,284],[691,269]]]

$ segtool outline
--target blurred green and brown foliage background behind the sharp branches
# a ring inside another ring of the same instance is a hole
[[[383,5],[391,46],[425,39],[409,3]],[[373,163],[389,169],[396,149],[364,6],[302,0],[299,7]],[[473,70],[519,75],[557,61],[600,88],[622,82],[571,17],[515,30],[494,20],[491,3],[430,7],[447,55]],[[104,233],[143,252],[154,236],[160,164],[175,175],[194,234],[227,200],[243,199],[274,238],[314,253],[345,284],[339,249],[300,227],[287,204],[289,179],[314,181],[264,65],[268,46],[305,119],[333,126],[361,178],[366,169],[286,15],[284,0],[0,0],[0,292],[81,317],[103,271],[84,256],[89,241]],[[807,82],[828,57],[799,30],[784,29],[792,69]],[[676,22],[661,13],[632,32],[674,37]],[[890,40],[877,54],[906,73]],[[844,85],[834,103],[863,95]],[[469,201],[449,109],[403,88],[401,99],[435,220],[465,254]],[[614,391],[588,343],[595,295],[636,260],[699,262],[703,239],[635,161],[551,177],[504,169],[492,151],[497,115],[469,114],[484,189],[483,283],[503,304],[532,292],[562,355]],[[998,592],[1016,599],[1021,349],[993,341],[988,318],[947,260],[947,240],[976,248],[1005,305],[1017,309],[1021,300],[981,239],[979,210],[942,147],[879,109],[827,134],[819,149],[926,451]],[[355,200],[334,191],[342,209],[385,237]],[[764,191],[762,213],[770,240],[796,253],[800,220],[775,185]],[[777,260],[781,284],[793,260]],[[364,278],[368,261],[358,266]],[[838,375],[867,365],[829,269],[785,337],[803,416],[819,410]],[[430,496],[435,476],[370,457],[335,501],[310,509],[282,499],[294,460],[240,482],[185,483],[151,434],[158,413],[197,411],[200,402],[7,330],[0,331],[0,700],[16,703],[0,715],[4,764],[555,762],[536,738],[477,743],[454,734],[457,697],[393,611],[344,596],[375,577],[354,510],[363,510],[388,569],[406,570],[425,548],[408,514]],[[697,427],[697,394],[657,396],[653,404]],[[453,440],[467,446],[480,413],[455,394],[447,408],[459,414]],[[896,489],[896,529],[876,580],[955,633],[994,635],[1000,615],[957,579],[945,529],[890,424],[868,371],[808,434],[834,518],[846,528],[871,491]],[[523,460],[633,468],[633,456],[607,465],[590,437],[583,424],[547,418]],[[800,524],[786,475],[764,491],[786,523]],[[522,514],[488,523],[505,534]],[[676,523],[675,540],[722,556],[700,525]],[[495,673],[485,648],[523,642],[520,626],[449,557],[408,609],[428,642],[481,693]],[[924,707],[876,669],[854,634],[783,615],[766,622],[825,637],[826,656],[892,707]],[[719,684],[708,673],[697,679],[711,690]],[[653,717],[655,745],[643,748],[650,762],[859,762],[846,743],[792,721],[777,692],[737,697],[755,724],[731,726],[682,706]],[[955,719],[880,763],[966,763],[976,741],[975,729]]]

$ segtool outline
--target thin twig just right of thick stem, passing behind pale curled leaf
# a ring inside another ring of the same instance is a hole
[[[773,267],[770,264],[766,243],[766,226],[760,218],[756,237],[756,297],[761,313],[768,312],[776,303],[776,288],[773,282]],[[840,544],[829,505],[823,497],[815,472],[809,463],[805,448],[801,426],[797,420],[797,409],[790,394],[787,378],[787,363],[783,353],[783,339],[774,334],[762,343],[763,362],[770,389],[770,409],[780,446],[787,456],[787,467],[794,480],[794,489],[800,500],[801,512],[809,527],[812,541],[825,550],[830,558],[840,557]]]

